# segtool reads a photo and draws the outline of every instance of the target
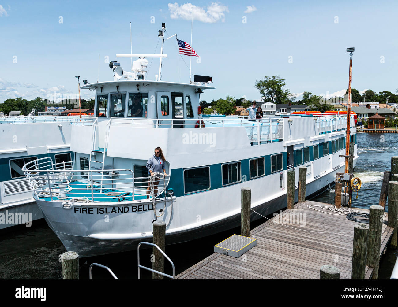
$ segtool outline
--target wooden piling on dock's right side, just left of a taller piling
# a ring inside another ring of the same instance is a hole
[[[354,226],[351,279],[365,278],[368,232],[368,225],[357,224]]]

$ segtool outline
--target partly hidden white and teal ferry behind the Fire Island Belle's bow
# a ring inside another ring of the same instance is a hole
[[[32,196],[33,188],[21,168],[47,157],[71,165],[70,134],[74,122],[94,119],[72,117],[5,116],[0,118],[0,229],[43,218]]]

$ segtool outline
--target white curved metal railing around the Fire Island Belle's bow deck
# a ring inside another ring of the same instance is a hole
[[[114,202],[145,199],[150,176],[134,177],[131,169],[73,169],[74,163],[53,163],[51,158],[36,159],[23,165],[34,193],[51,200]],[[164,192],[170,176],[155,180],[155,197]]]

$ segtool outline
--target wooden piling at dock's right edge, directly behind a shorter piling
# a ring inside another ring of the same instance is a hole
[[[380,261],[381,232],[383,225],[384,207],[371,206],[369,209],[369,239],[366,255],[366,265],[374,268],[372,279],[378,277],[378,265]]]

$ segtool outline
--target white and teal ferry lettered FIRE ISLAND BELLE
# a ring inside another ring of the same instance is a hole
[[[159,73],[146,80],[146,58],[160,58],[161,67],[165,54],[117,56],[137,57],[133,71],[113,61],[113,80],[81,87],[96,91],[95,114],[71,127],[73,165],[38,157],[23,166],[67,251],[84,257],[136,249],[152,241],[156,220],[166,222],[167,244],[204,237],[240,225],[243,187],[252,190],[251,208],[266,216],[286,207],[289,169],[297,173],[296,200],[299,166],[307,167],[307,197],[344,171],[346,116],[202,117],[199,95],[214,89],[212,78],[166,82]],[[135,100],[142,112],[133,112]],[[167,176],[155,174],[156,190],[146,163],[158,146]],[[356,145],[354,155],[355,166]],[[260,217],[252,212],[252,220]]]

